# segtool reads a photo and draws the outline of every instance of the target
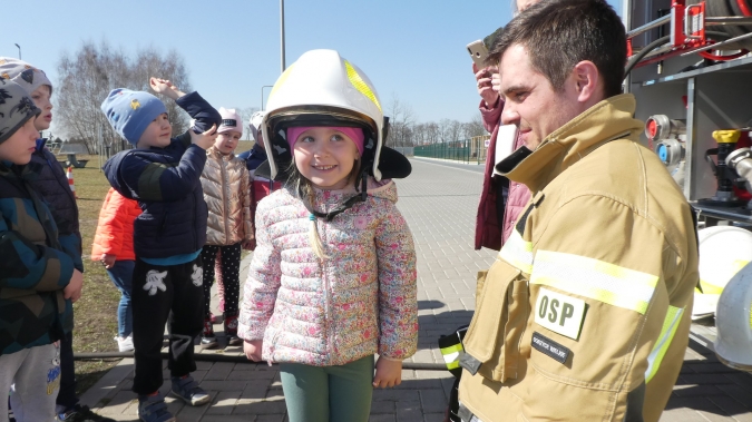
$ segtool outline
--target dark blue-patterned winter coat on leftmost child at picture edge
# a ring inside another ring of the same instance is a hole
[[[62,289],[74,258],[31,187],[39,166],[0,163],[0,355],[50,344],[72,330],[72,305]]]

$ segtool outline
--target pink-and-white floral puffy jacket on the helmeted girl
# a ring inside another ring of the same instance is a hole
[[[318,190],[314,207],[332,210],[353,194]],[[330,366],[416,352],[412,235],[393,181],[370,180],[368,194],[331,222],[316,219],[325,261],[311,249],[310,214],[293,193],[276,190],[258,203],[238,336],[263,338],[264,360]]]

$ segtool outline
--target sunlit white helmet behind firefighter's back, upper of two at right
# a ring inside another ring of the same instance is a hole
[[[697,232],[700,285],[695,292],[693,318],[711,316],[721,292],[744,265],[752,261],[752,232],[734,226],[713,226]]]

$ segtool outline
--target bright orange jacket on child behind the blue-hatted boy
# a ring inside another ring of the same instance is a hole
[[[99,224],[94,235],[91,261],[101,254],[115,255],[116,261],[134,261],[134,220],[141,214],[138,203],[109,188],[99,210]]]

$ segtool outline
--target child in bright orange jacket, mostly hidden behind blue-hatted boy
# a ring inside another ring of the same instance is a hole
[[[118,350],[134,350],[134,313],[130,304],[131,281],[136,266],[134,253],[134,220],[141,208],[134,199],[128,199],[109,188],[99,210],[99,224],[91,245],[91,261],[99,261],[107,275],[120,291],[120,304],[117,308]]]

